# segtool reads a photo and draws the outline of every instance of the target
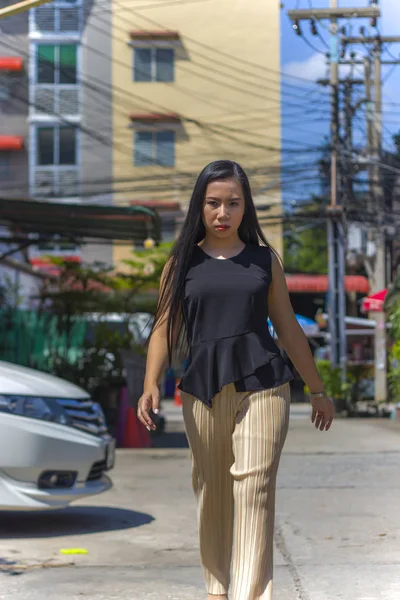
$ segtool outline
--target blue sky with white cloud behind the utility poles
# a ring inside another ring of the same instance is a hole
[[[369,0],[339,0],[340,7],[368,6]],[[284,74],[282,81],[283,100],[283,148],[299,147],[303,142],[307,148],[318,147],[329,135],[329,94],[328,89],[315,84],[316,79],[329,77],[326,52],[329,44],[328,21],[317,22],[319,36],[313,36],[307,21],[301,23],[303,36],[298,36],[292,28],[292,23],[287,16],[287,11],[295,8],[328,8],[329,0],[287,0],[283,2],[281,11],[281,69]],[[382,35],[400,35],[400,0],[380,0],[381,17],[378,19],[378,28]],[[348,33],[359,35],[361,25],[366,26],[366,31],[373,35],[376,29],[370,26],[369,20],[353,19],[341,20],[340,26],[346,25]],[[304,39],[305,38],[305,39]],[[309,44],[314,46],[310,47]],[[325,43],[324,43],[325,41]],[[362,46],[352,47],[358,50],[360,56],[366,54]],[[400,57],[400,44],[391,44],[389,50],[393,57]],[[384,54],[386,59],[391,59]],[[346,75],[347,67],[340,67],[341,77]],[[363,77],[362,67],[357,67],[355,77]],[[361,70],[360,70],[361,69]],[[347,71],[348,72],[348,71]],[[391,136],[400,130],[400,65],[397,67],[383,67],[383,144],[392,148]],[[307,83],[309,80],[310,83]],[[292,87],[293,86],[293,87]],[[296,86],[296,87],[294,87]],[[293,109],[293,95],[297,95],[298,110]],[[355,90],[355,100],[363,96],[364,88],[360,86]],[[354,119],[354,144],[363,144],[365,141],[365,111],[361,108]],[[309,197],[310,192],[318,191],[318,176],[312,168],[312,162],[317,155],[310,150],[299,152],[293,158],[293,152],[283,152],[283,191],[285,202],[294,203]],[[310,166],[311,163],[311,166]],[[296,171],[299,177],[294,176],[293,164],[299,165]],[[288,166],[286,166],[288,165]],[[307,165],[309,167],[307,168]],[[304,169],[301,173],[301,169]],[[285,181],[286,173],[286,181]],[[305,178],[306,175],[306,178]],[[306,179],[306,181],[305,181]],[[307,182],[308,180],[308,182]],[[299,185],[300,183],[300,185]]]

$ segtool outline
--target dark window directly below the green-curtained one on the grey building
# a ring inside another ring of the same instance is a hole
[[[76,165],[76,127],[38,127],[36,164]]]

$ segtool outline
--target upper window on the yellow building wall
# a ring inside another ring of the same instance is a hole
[[[172,48],[134,48],[134,81],[174,81]]]

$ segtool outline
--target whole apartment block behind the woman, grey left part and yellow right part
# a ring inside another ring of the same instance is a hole
[[[135,6],[55,0],[2,21],[3,194],[147,206],[171,240],[200,170],[234,159],[281,251],[278,3]],[[52,238],[30,255],[118,264],[131,249]]]

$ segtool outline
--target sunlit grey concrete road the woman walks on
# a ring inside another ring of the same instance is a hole
[[[292,407],[279,473],[274,600],[400,600],[400,424],[337,420],[320,433],[308,412]],[[112,491],[0,513],[1,599],[206,598],[189,454],[167,413],[159,448],[119,451]]]

